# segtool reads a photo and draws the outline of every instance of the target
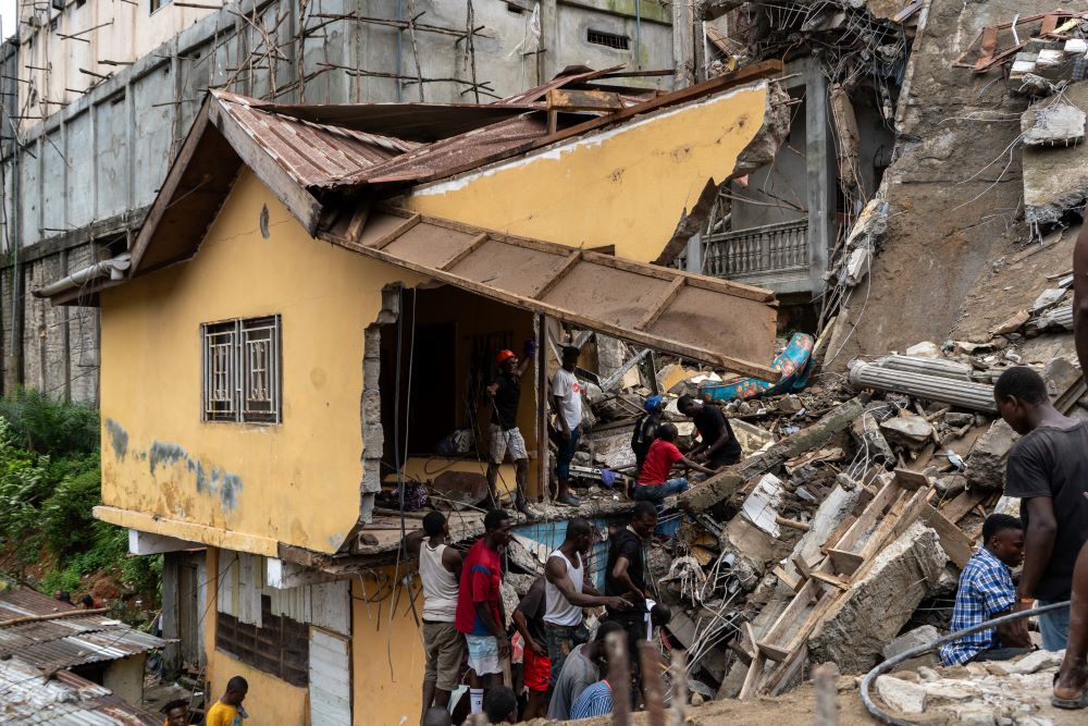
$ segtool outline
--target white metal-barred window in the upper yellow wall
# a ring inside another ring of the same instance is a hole
[[[202,420],[279,423],[280,316],[206,323],[200,331]]]

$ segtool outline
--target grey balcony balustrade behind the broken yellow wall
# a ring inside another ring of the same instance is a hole
[[[710,234],[705,241],[705,274],[729,280],[808,275],[807,220]]]

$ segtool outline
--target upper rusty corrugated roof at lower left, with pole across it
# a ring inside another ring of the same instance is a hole
[[[64,612],[81,611],[29,589],[0,593],[0,623]],[[101,614],[73,614],[0,627],[0,659],[17,655],[47,669],[114,661],[165,644],[161,638]]]

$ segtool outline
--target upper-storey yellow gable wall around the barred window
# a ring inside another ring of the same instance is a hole
[[[363,332],[396,281],[420,278],[311,239],[244,171],[191,260],[102,295],[103,503],[334,552],[358,518]],[[200,324],[272,313],[283,423],[201,422]]]

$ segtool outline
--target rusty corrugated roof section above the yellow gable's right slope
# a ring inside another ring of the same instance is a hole
[[[342,126],[311,123],[263,111],[250,99],[212,91],[215,100],[250,137],[264,147],[300,186],[321,186],[333,179],[359,173],[419,144],[368,134]]]

